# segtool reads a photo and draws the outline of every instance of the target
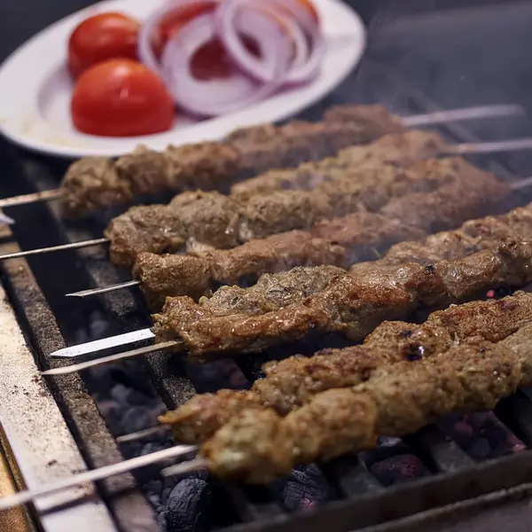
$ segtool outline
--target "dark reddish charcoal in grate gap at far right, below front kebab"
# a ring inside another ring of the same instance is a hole
[[[475,460],[489,460],[525,449],[525,444],[493,412],[457,413],[440,419],[436,425]]]

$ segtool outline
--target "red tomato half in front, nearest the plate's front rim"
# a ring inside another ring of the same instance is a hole
[[[84,72],[70,110],[76,129],[101,137],[160,133],[174,121],[174,103],[164,84],[130,59],[110,59]]]

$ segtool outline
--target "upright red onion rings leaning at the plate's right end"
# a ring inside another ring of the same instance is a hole
[[[223,0],[215,12],[218,38],[230,53],[231,59],[246,74],[262,82],[271,82],[273,74],[270,63],[247,51],[242,41],[242,35],[246,35],[253,27],[247,22],[251,13],[264,13],[266,6],[274,17],[282,21],[285,33],[293,39],[296,46],[293,65],[286,76],[286,82],[308,82],[317,75],[325,54],[325,39],[317,20],[296,0],[268,0],[267,4],[262,0]],[[255,33],[254,27],[253,36],[262,50],[268,49],[267,41],[260,38],[262,35]],[[304,42],[306,47],[304,55],[301,53],[301,42]]]

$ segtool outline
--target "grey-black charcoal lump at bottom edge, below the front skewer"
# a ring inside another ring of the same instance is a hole
[[[213,498],[210,482],[198,477],[178,481],[168,497],[168,510],[159,522],[167,532],[202,532],[210,528],[209,506]]]

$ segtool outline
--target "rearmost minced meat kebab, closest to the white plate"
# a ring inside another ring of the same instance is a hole
[[[135,195],[162,191],[228,191],[231,184],[270,168],[289,168],[331,156],[403,130],[401,119],[381,106],[339,106],[322,122],[291,121],[238,129],[220,142],[168,146],[154,152],[140,146],[114,161],[86,157],[66,172],[61,189],[66,209],[128,203]]]

